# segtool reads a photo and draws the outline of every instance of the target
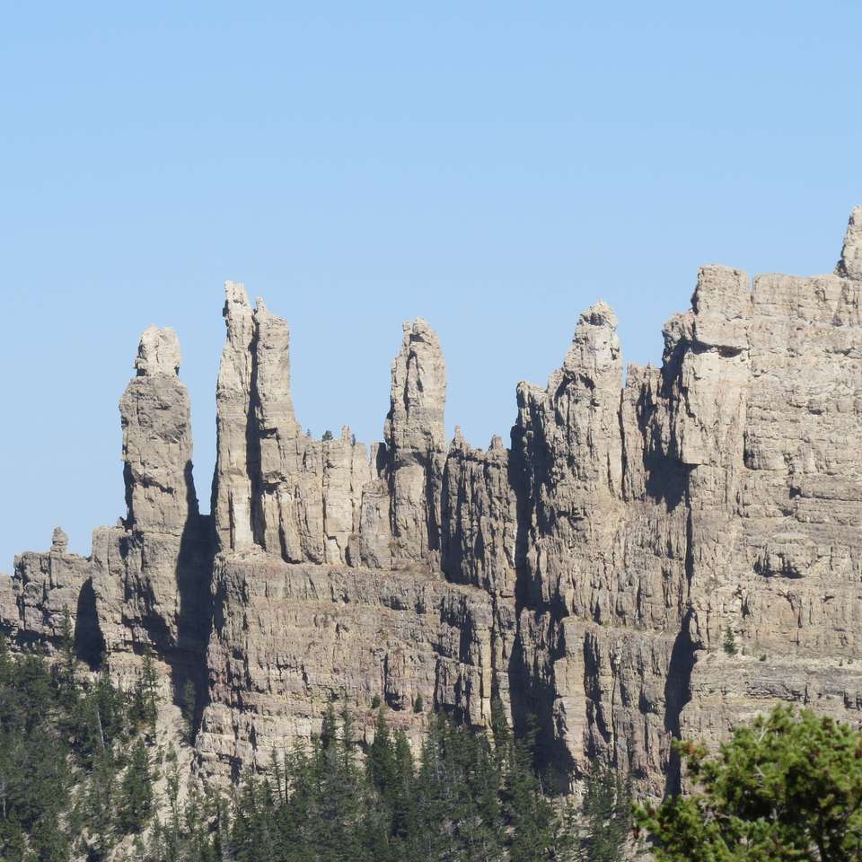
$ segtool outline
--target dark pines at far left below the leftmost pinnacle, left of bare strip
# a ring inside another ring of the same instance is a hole
[[[150,821],[153,775],[136,732],[148,696],[128,697],[107,670],[84,676],[67,612],[53,666],[0,639],[0,859],[103,858]]]

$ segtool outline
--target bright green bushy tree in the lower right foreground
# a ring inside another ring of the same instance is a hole
[[[678,746],[698,792],[638,807],[659,862],[862,858],[862,734],[776,708],[738,727],[715,756]]]

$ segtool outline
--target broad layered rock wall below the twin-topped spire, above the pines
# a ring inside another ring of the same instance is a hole
[[[210,773],[267,768],[320,728],[334,698],[374,725],[385,702],[418,738],[429,711],[490,721],[488,594],[414,573],[286,564],[256,553],[216,561],[210,703],[198,751]],[[427,706],[415,712],[417,699]]]

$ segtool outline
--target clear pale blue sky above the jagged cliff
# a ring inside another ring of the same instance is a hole
[[[655,362],[699,264],[830,271],[860,32],[858,2],[0,4],[0,571],[124,513],[150,323],[208,508],[225,278],[290,322],[316,435],[380,438],[418,315],[484,446],[595,300]]]

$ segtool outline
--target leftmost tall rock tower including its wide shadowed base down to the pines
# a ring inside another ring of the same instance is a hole
[[[137,376],[120,399],[128,514],[93,532],[88,591],[99,648],[120,684],[134,683],[145,649],[194,664],[208,629],[208,519],[192,479],[189,393],[173,330],[145,330]]]

